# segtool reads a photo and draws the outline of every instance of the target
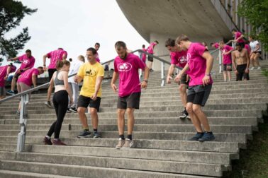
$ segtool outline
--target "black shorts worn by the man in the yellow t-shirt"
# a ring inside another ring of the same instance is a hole
[[[96,100],[92,100],[91,97],[85,97],[80,95],[77,102],[78,107],[93,107],[99,112],[99,106],[101,105],[101,97],[97,97]]]

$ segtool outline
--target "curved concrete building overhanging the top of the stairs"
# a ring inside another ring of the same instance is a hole
[[[169,54],[167,38],[186,34],[192,41],[231,40],[231,30],[250,32],[250,25],[236,13],[242,0],[116,0],[125,17],[147,42],[158,40],[155,54]],[[217,54],[216,54],[217,55]],[[169,60],[169,57],[163,57]],[[154,69],[160,63],[154,62]]]

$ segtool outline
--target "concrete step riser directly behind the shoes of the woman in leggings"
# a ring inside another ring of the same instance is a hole
[[[0,131],[1,136],[18,136],[18,130]],[[77,138],[80,131],[61,131],[61,138]],[[47,130],[30,130],[27,131],[26,136],[46,136]],[[118,138],[118,131],[100,131],[102,138]],[[186,141],[194,136],[195,132],[146,132],[134,131],[134,139],[150,139],[150,140],[173,140],[173,141]],[[125,133],[126,135],[126,133]],[[251,135],[245,133],[214,133],[215,141],[227,141],[246,143],[247,139],[252,139]],[[78,139],[78,138],[77,138]]]

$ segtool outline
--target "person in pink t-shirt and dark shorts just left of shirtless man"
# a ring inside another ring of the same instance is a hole
[[[224,42],[220,42],[220,51],[222,52],[222,58],[223,58],[223,78],[224,81],[228,81],[231,79],[231,73],[232,71],[232,52],[233,47],[230,47],[229,45],[224,45]]]

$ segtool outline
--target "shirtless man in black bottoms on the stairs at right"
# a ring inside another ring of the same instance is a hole
[[[236,81],[242,81],[244,77],[245,81],[250,80],[249,66],[250,57],[247,49],[243,48],[240,43],[235,45],[235,51],[232,52],[233,68],[235,69]]]

